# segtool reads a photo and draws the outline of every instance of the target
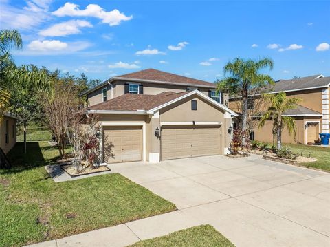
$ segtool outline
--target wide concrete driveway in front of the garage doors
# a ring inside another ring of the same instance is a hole
[[[252,155],[111,169],[211,224],[236,246],[330,246],[330,174]]]

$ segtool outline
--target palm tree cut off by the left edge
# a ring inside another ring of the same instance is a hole
[[[21,34],[17,30],[0,30],[0,120],[9,107],[10,93],[5,87],[4,71],[12,65],[10,49],[22,47]]]

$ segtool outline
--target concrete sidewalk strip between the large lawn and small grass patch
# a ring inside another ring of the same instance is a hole
[[[145,219],[135,220],[117,226],[92,230],[87,233],[80,233],[45,241],[39,244],[32,244],[33,247],[90,247],[90,246],[111,246],[122,247],[134,244],[137,241],[151,239],[168,235],[177,230],[197,226],[197,220],[181,211],[173,211],[156,215]]]

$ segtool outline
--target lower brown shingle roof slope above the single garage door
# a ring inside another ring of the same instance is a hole
[[[87,110],[110,110],[110,111],[148,111],[159,105],[168,103],[170,100],[179,98],[189,92],[173,93],[162,92],[157,95],[150,94],[124,94],[122,96],[107,100],[106,102],[99,103],[87,107]]]

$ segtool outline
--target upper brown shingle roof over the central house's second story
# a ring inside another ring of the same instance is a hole
[[[159,82],[167,83],[180,83],[184,85],[203,85],[209,87],[215,87],[214,83],[208,83],[204,80],[197,80],[186,76],[179,76],[168,72],[162,72],[157,69],[144,69],[139,72],[133,72],[129,74],[123,74],[121,76],[115,76],[115,78],[133,78],[139,80],[157,80]]]

